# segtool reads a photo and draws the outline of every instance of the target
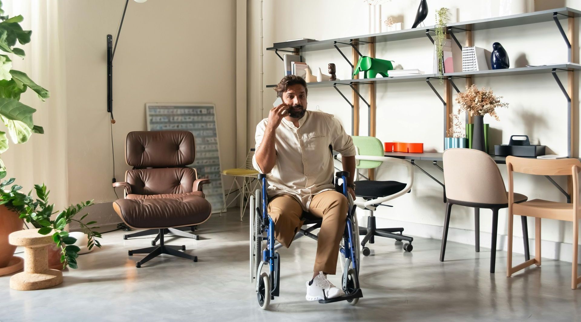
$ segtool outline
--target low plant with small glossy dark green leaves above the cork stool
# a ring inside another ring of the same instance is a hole
[[[0,171],[0,179],[5,178],[5,176],[6,171]],[[0,205],[5,205],[8,209],[16,212],[21,219],[31,223],[35,228],[40,228],[38,233],[43,235],[52,234],[52,240],[60,248],[60,262],[63,263],[63,268],[69,266],[71,269],[76,269],[78,252],[81,250],[78,246],[73,245],[77,239],[69,236],[69,232],[65,230],[67,224],[77,222],[81,226],[83,233],[88,236],[87,247],[89,249],[95,246],[101,247],[101,243],[95,239],[101,238],[101,234],[94,231],[94,229],[99,227],[89,227],[96,222],[83,223],[83,219],[88,214],[81,216],[81,218],[76,218],[84,208],[93,205],[92,200],[70,205],[63,211],[60,211],[55,219],[51,219],[52,215],[56,214],[57,211],[53,211],[54,204],[48,203],[48,195],[51,191],[46,191],[45,184],[34,185],[37,198],[33,198],[32,190],[28,194],[24,194],[20,192],[22,186],[13,184],[14,182],[15,179],[10,178],[0,183]],[[10,184],[13,185],[8,190],[7,187]]]

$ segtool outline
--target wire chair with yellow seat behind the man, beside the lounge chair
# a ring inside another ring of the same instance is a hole
[[[250,200],[250,194],[254,188],[256,188],[257,175],[258,171],[254,169],[252,165],[252,157],[254,156],[254,149],[250,149],[248,154],[246,155],[246,162],[244,167],[242,168],[232,168],[232,169],[225,169],[220,172],[221,175],[224,176],[232,176],[234,180],[232,180],[232,184],[230,185],[230,189],[228,189],[228,193],[224,190],[224,206],[220,209],[220,216],[222,212],[224,212],[232,202],[236,201],[236,198],[240,197],[240,221],[242,221],[242,217],[244,216],[244,212],[246,210],[246,206]],[[242,183],[239,182],[238,178],[242,178]],[[232,187],[236,184],[237,190],[232,191]],[[226,202],[228,196],[232,193],[236,192],[235,198],[233,198],[230,202]],[[246,200],[246,202],[245,202]]]

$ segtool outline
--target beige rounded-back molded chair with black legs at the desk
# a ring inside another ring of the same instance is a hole
[[[490,245],[490,273],[494,273],[496,262],[496,237],[498,230],[498,210],[508,207],[508,200],[524,202],[523,194],[507,192],[503,177],[490,155],[474,149],[447,149],[443,155],[444,183],[446,184],[446,218],[442,234],[440,262],[444,261],[448,226],[452,205],[461,205],[475,209],[474,231],[476,251],[479,251],[480,208],[492,210],[492,243]],[[510,197],[507,197],[510,196]],[[522,234],[525,258],[529,257],[529,238],[526,217],[522,219]]]

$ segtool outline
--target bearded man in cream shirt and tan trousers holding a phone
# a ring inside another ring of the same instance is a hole
[[[288,248],[303,225],[303,211],[322,218],[313,277],[307,281],[308,301],[342,296],[328,274],[335,274],[339,243],[346,225],[347,199],[332,182],[333,158],[329,146],[342,155],[348,171],[347,189],[355,198],[353,178],[356,150],[352,138],[333,115],[307,111],[307,84],[288,75],[275,88],[282,104],[256,126],[254,168],[267,175],[268,215],[275,238]],[[329,180],[331,179],[331,180]]]

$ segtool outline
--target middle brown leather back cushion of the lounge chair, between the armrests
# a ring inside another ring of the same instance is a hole
[[[192,192],[196,180],[193,168],[135,169],[125,173],[134,194],[177,194]]]

